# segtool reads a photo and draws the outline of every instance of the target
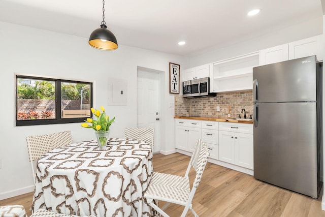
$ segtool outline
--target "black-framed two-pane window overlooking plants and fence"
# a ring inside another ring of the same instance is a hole
[[[91,107],[90,82],[16,76],[16,126],[83,122]]]

